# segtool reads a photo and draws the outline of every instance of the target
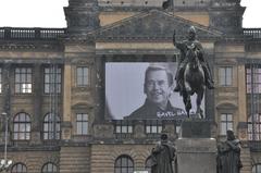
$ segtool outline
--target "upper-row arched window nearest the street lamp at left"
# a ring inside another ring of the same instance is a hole
[[[18,113],[13,120],[13,139],[29,140],[30,139],[30,118],[27,113]]]

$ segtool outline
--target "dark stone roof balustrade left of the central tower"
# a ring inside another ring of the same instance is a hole
[[[0,27],[0,39],[58,39],[66,34],[65,28]]]

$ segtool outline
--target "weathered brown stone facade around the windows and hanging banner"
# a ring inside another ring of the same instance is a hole
[[[245,8],[238,1],[173,0],[166,10],[162,10],[161,0],[69,2],[64,8],[67,28],[0,28],[0,110],[9,116],[8,158],[14,161],[12,168],[22,163],[28,173],[36,173],[51,163],[60,173],[113,173],[115,161],[123,156],[133,161],[134,171],[146,170],[145,162],[160,132],[146,133],[145,121],[122,124],[105,119],[105,62],[176,61],[173,54],[179,52],[172,45],[173,30],[182,40],[191,25],[197,28],[215,81],[215,89],[206,92],[211,137],[224,139],[221,118],[232,115],[225,124],[231,123],[243,141],[241,172],[250,173],[261,163],[260,138],[249,140],[249,115],[260,112],[256,111],[258,107],[251,107],[258,98],[247,92],[246,75],[249,65],[261,64],[261,34],[259,29],[241,27]],[[83,86],[76,75],[80,67],[88,69],[87,85]],[[221,70],[225,67],[231,72],[228,85],[221,83]],[[17,69],[32,70],[32,79],[25,79],[32,84],[27,92],[15,90]],[[55,84],[61,91],[46,92],[46,69],[61,69],[61,81]],[[25,133],[28,138],[15,129],[14,120],[20,113],[28,114],[29,121],[23,122],[30,124]],[[60,116],[60,138],[45,133],[48,113]],[[88,115],[88,128],[79,135],[77,115],[83,113]],[[163,121],[160,125],[176,143],[178,122]],[[117,127],[123,126],[132,128],[132,133],[119,133]],[[4,127],[1,118],[0,156]],[[15,139],[15,134],[20,139]],[[51,136],[46,139],[45,134]]]

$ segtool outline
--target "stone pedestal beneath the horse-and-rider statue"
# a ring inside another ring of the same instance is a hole
[[[178,173],[216,173],[216,141],[210,122],[185,121],[176,141]]]

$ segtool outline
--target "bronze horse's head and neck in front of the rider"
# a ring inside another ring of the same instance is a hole
[[[188,59],[188,63],[192,69],[198,69],[199,66],[198,53],[199,50],[194,44],[187,45],[186,58]]]

